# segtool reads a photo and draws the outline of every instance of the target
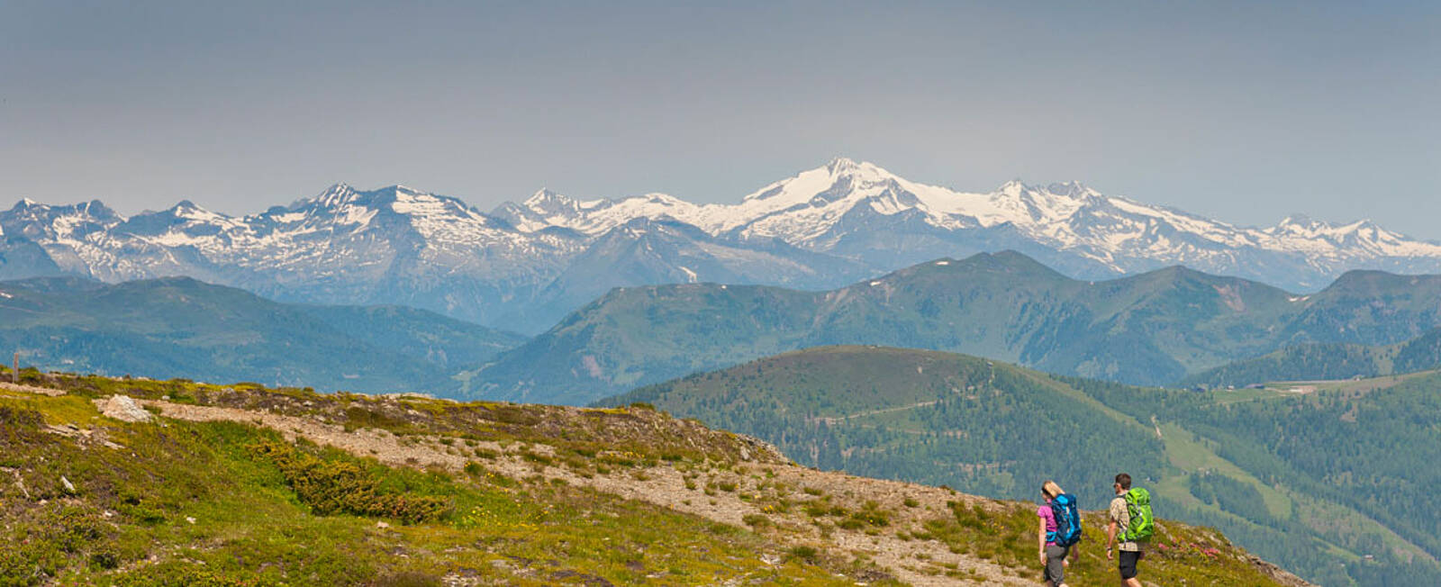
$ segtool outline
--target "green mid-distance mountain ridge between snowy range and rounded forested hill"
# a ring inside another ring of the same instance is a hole
[[[1013,252],[942,259],[830,292],[617,289],[470,377],[473,397],[585,403],[829,344],[965,352],[1115,381],[1301,342],[1393,344],[1441,325],[1441,276],[1352,272],[1310,296],[1167,268],[1082,282]]]

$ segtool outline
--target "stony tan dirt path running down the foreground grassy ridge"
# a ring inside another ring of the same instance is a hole
[[[281,416],[265,411],[248,411],[226,407],[189,406],[169,401],[146,400],[146,406],[160,409],[163,416],[180,420],[233,420],[249,422],[280,430],[288,439],[304,437],[318,445],[330,445],[337,449],[359,456],[372,456],[392,466],[428,468],[440,466],[448,470],[461,470],[467,462],[477,460],[464,456],[461,452],[441,443],[441,437],[431,436],[396,436],[385,430],[360,429],[346,432],[342,426],[327,424],[304,417]],[[757,481],[746,475],[733,472],[712,473],[710,478],[728,478],[736,482],[735,491],[718,491],[706,495],[699,488],[686,488],[686,472],[677,470],[669,463],[646,469],[623,469],[610,475],[581,476],[571,469],[558,466],[542,466],[523,460],[519,455],[523,450],[519,445],[503,447],[499,443],[480,442],[477,447],[484,447],[500,453],[499,458],[481,460],[488,469],[512,476],[529,478],[543,475],[548,479],[563,479],[566,483],[595,491],[614,493],[628,499],[646,501],[670,509],[693,514],[706,519],[745,525],[742,521],[749,514],[762,514],[755,504],[741,499],[741,493],[757,486]],[[530,446],[532,452],[542,452],[542,446]],[[834,544],[834,552],[863,554],[876,564],[891,570],[898,578],[915,586],[954,586],[954,584],[987,584],[987,586],[1030,586],[1035,581],[1016,577],[1009,568],[967,557],[953,554],[940,541],[909,540],[904,541],[895,535],[896,531],[919,529],[927,518],[937,518],[948,512],[947,501],[961,501],[967,505],[991,505],[990,499],[974,498],[963,493],[931,488],[915,483],[856,478],[834,472],[820,472],[793,465],[754,465],[751,473],[769,472],[774,478],[765,482],[782,482],[795,488],[811,488],[840,499],[839,504],[855,505],[865,501],[876,501],[886,509],[895,512],[891,525],[885,532],[866,535],[862,531],[834,529],[829,538],[821,538],[820,531],[810,518],[794,508],[791,514],[764,512],[780,529],[767,531],[774,538],[787,545],[816,545],[823,542]],[[693,473],[692,473],[693,475]],[[706,473],[700,473],[700,483],[705,485]],[[765,478],[764,475],[761,475]],[[808,498],[797,493],[797,498]],[[914,499],[915,506],[906,508],[901,504]],[[950,578],[944,575],[927,574],[924,568],[932,571],[938,565],[954,564],[957,570],[970,578]]]

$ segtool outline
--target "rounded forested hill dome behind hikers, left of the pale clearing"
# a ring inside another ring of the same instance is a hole
[[[608,400],[759,436],[803,465],[1030,499],[1062,479],[1092,509],[1121,469],[1157,472],[1154,430],[1006,363],[937,351],[820,347]]]

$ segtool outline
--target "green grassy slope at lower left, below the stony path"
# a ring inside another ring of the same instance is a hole
[[[258,390],[249,396],[267,401]],[[323,396],[314,397],[307,401]],[[85,449],[16,422],[26,413],[42,414],[45,424],[97,430],[124,449]],[[728,577],[843,583],[794,557],[774,567],[762,563],[762,554],[778,548],[735,527],[581,488],[497,478],[483,468],[473,478],[452,476],[298,445],[330,462],[359,463],[396,493],[447,502],[438,519],[406,525],[379,517],[391,522],[379,528],[378,517],[316,515],[297,498],[284,472],[252,450],[258,443],[284,443],[272,429],[179,420],[122,424],[99,419],[86,397],[73,394],[6,394],[0,419],[9,419],[0,433],[7,473],[0,485],[7,506],[0,515],[7,538],[24,544],[0,554],[0,584],[45,577],[120,584],[431,584],[448,573],[516,584],[599,578],[634,584],[648,574],[679,583]],[[392,427],[403,432],[405,424],[395,420]],[[76,489],[66,491],[61,476]],[[517,568],[530,570],[512,573]]]

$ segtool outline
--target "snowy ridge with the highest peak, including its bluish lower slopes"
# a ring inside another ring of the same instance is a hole
[[[1014,180],[991,193],[964,193],[847,158],[765,186],[736,204],[700,206],[666,194],[575,200],[542,190],[493,214],[522,230],[563,226],[586,235],[635,217],[674,219],[710,235],[780,239],[883,269],[1016,249],[1085,279],[1186,265],[1297,291],[1317,289],[1347,269],[1441,269],[1441,245],[1369,220],[1330,224],[1293,216],[1251,229],[1104,196],[1076,181]]]

